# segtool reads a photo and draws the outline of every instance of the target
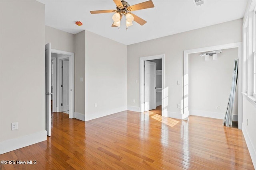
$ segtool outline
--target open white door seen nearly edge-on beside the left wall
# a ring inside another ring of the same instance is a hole
[[[52,45],[48,43],[45,45],[45,117],[46,117],[46,131],[47,135],[51,135],[51,94],[52,94]]]

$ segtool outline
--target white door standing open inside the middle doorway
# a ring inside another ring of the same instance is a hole
[[[156,63],[144,61],[144,111],[156,109]]]

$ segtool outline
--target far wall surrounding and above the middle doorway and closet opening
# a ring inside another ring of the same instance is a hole
[[[242,41],[242,19],[178,33],[127,47],[127,105],[139,107],[139,58],[152,55],[165,55],[165,85],[167,113],[182,113],[177,104],[182,103],[183,51],[214,45]],[[167,90],[168,89],[168,90]],[[136,99],[132,103],[132,99]]]

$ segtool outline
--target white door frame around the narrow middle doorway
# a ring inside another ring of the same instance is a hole
[[[165,90],[164,90],[164,54],[153,55],[148,57],[140,57],[140,96],[139,96],[139,108],[140,112],[144,112],[144,61],[162,59],[162,116],[167,116],[164,113],[166,107],[165,100]]]

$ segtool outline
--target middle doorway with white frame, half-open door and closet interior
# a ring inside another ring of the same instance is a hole
[[[156,62],[158,62],[158,66],[154,66]],[[149,70],[147,70],[147,68],[146,70],[144,69],[145,63],[148,64]],[[154,78],[153,74],[156,75],[156,78]],[[163,89],[164,55],[140,57],[140,112],[151,110],[166,116],[164,114],[165,103]]]

